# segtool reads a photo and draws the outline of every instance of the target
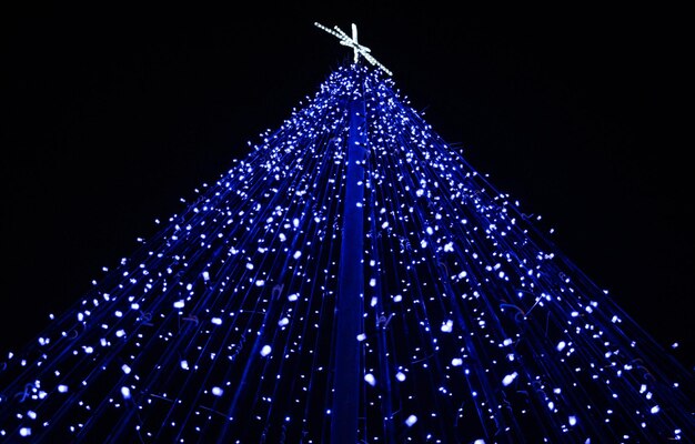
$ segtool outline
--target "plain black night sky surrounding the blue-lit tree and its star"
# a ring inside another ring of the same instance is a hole
[[[355,22],[434,130],[693,367],[689,16],[425,7],[2,14],[0,350],[33,339],[350,60],[319,21]]]

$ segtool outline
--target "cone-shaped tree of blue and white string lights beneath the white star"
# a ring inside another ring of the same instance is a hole
[[[394,85],[331,72],[3,354],[0,440],[692,442],[693,375]]]

